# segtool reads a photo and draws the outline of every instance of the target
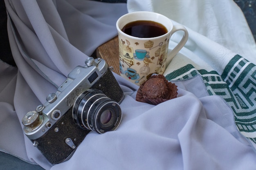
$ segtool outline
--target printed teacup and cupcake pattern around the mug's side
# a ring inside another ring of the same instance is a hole
[[[145,77],[153,73],[163,74],[168,51],[168,38],[155,44],[147,40],[143,46],[139,42],[131,44],[128,40],[119,39],[120,74],[126,75],[135,83],[142,84]],[[139,69],[138,69],[139,68]]]

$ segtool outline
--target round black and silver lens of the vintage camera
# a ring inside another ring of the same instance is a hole
[[[122,116],[119,104],[97,89],[83,92],[76,99],[72,114],[81,128],[98,133],[115,130]]]

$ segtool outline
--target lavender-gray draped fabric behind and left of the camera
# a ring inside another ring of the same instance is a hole
[[[40,164],[45,158],[23,135],[22,117],[45,103],[75,66],[83,66],[99,45],[117,35],[115,23],[127,13],[126,4],[89,0],[5,0],[5,4],[18,69],[0,61],[0,148]]]

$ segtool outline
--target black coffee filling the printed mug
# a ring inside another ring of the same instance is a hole
[[[128,35],[138,38],[153,38],[168,32],[164,25],[148,20],[129,22],[121,30]]]

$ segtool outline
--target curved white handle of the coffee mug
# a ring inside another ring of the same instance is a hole
[[[176,31],[183,31],[184,35],[183,35],[182,39],[180,40],[180,42],[177,44],[177,46],[175,46],[175,48],[168,54],[168,57],[171,57],[171,59],[182,49],[182,47],[186,44],[186,42],[189,38],[189,33],[188,33],[187,29],[184,26],[174,25],[173,29],[171,31],[171,36]]]

